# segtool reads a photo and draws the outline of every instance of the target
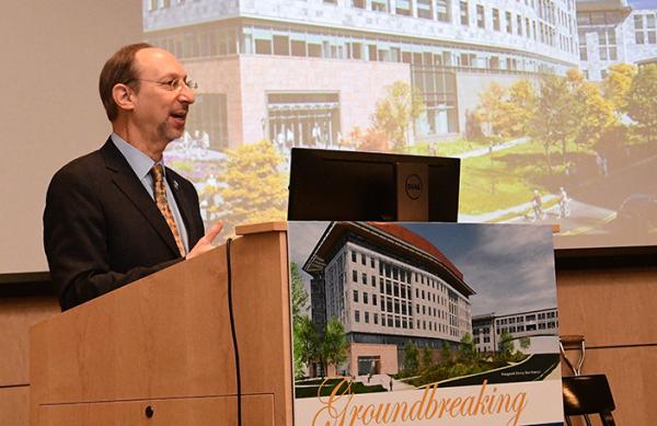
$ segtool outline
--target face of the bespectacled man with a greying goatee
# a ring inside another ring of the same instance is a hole
[[[139,92],[135,94],[132,124],[145,142],[170,142],[183,136],[194,92],[182,84],[172,89],[174,80],[187,73],[166,50],[146,48],[135,55]]]

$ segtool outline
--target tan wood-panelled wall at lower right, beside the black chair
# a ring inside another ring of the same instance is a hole
[[[654,423],[657,267],[560,272],[557,296],[560,333],[585,336],[583,373],[607,375],[616,424]]]

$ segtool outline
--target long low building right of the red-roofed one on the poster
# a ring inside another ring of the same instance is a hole
[[[558,335],[558,312],[556,308],[548,308],[504,315],[486,313],[472,318],[472,335],[479,352],[498,350],[502,333],[509,333],[514,339]]]

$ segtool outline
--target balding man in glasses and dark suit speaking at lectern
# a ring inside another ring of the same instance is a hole
[[[185,129],[196,83],[166,50],[125,46],[99,89],[113,133],[53,177],[44,246],[62,310],[212,249],[192,183],[162,165]]]

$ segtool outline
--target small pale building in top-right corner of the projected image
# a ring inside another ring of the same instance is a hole
[[[657,9],[632,9],[626,0],[577,2],[581,70],[600,81],[614,64],[657,60]]]

